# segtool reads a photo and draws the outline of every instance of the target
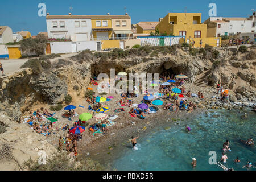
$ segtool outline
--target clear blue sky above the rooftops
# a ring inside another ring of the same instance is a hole
[[[30,31],[37,35],[39,31],[47,31],[46,18],[38,16],[38,4],[45,3],[51,15],[67,15],[69,7],[73,7],[73,15],[112,15],[125,14],[131,16],[131,23],[141,21],[158,21],[168,12],[202,13],[202,22],[209,18],[208,5],[216,3],[217,16],[247,17],[256,11],[253,0],[22,0],[3,1],[0,6],[0,25],[9,26],[13,31]],[[187,7],[187,8],[186,8]]]

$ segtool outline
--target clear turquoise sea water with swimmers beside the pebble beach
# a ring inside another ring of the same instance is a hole
[[[222,155],[222,144],[229,140],[231,152],[226,167],[234,170],[242,169],[247,161],[256,164],[256,147],[246,146],[239,139],[252,137],[256,142],[256,114],[246,111],[248,119],[241,119],[236,110],[214,110],[213,113],[197,115],[190,121],[182,121],[179,125],[167,122],[169,130],[155,130],[146,137],[137,139],[138,150],[124,147],[121,158],[114,160],[113,166],[118,170],[222,170],[217,165],[210,165],[209,151],[216,151],[217,160]],[[213,114],[220,117],[213,118]],[[191,132],[185,131],[185,125],[191,127]],[[233,162],[236,157],[241,164]],[[191,166],[192,158],[197,160],[197,166]],[[256,170],[251,168],[250,170]]]

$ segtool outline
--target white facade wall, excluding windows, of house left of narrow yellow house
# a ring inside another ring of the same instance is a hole
[[[80,27],[75,27],[75,21],[80,22]],[[86,27],[82,27],[82,21],[86,21]],[[58,27],[53,28],[52,22],[57,22]],[[65,28],[60,28],[60,22],[65,22]],[[90,34],[92,32],[92,23],[90,19],[47,19],[46,26],[49,38],[61,38],[60,34],[65,34],[65,38],[67,39],[71,39],[72,41],[81,41],[79,39],[81,36],[76,36],[76,34],[87,33],[86,40],[90,40]],[[82,37],[82,40],[85,40],[84,36]]]

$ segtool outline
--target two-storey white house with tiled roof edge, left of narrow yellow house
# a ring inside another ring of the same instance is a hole
[[[71,14],[69,14],[71,15]],[[92,23],[84,16],[49,15],[46,16],[49,38],[65,38],[72,41],[88,41],[91,39]]]

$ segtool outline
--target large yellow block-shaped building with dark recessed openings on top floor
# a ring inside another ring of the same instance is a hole
[[[221,38],[207,37],[207,24],[201,23],[201,13],[168,13],[164,18],[159,19],[155,27],[160,33],[185,36],[185,41],[191,44],[195,41],[195,47],[202,47],[209,44],[214,47],[221,45]]]

